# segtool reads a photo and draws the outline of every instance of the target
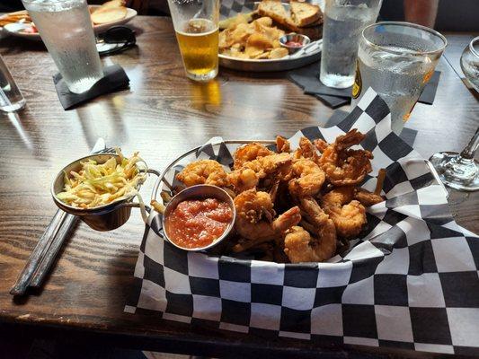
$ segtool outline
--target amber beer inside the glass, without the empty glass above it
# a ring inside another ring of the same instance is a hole
[[[186,74],[208,81],[217,75],[218,28],[207,19],[191,19],[176,31]]]

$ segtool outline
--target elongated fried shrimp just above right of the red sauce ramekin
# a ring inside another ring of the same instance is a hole
[[[288,172],[292,157],[289,153],[275,153],[259,157],[250,162],[244,162],[243,166],[228,174],[230,183],[236,192],[258,186],[260,180],[267,176],[278,174],[280,177]]]

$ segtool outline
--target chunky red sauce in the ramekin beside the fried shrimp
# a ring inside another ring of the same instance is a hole
[[[217,240],[233,220],[233,211],[217,198],[182,201],[164,220],[168,238],[177,246],[202,248]]]

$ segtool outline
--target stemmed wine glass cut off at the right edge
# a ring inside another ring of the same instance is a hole
[[[461,68],[466,79],[475,91],[479,92],[479,36],[464,49]],[[441,152],[430,157],[430,162],[446,186],[464,191],[479,189],[479,165],[474,159],[477,147],[479,147],[479,127],[461,153]]]

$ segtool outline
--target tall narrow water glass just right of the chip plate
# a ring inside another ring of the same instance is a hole
[[[321,82],[339,89],[354,83],[361,31],[376,22],[382,0],[326,0]]]

